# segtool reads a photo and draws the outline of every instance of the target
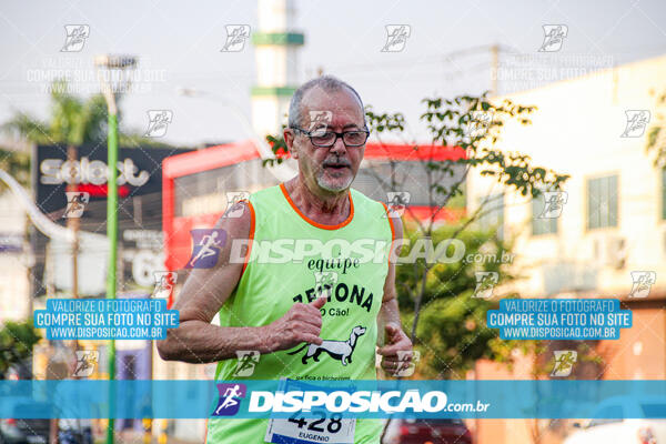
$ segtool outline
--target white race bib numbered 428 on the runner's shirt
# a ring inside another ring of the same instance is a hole
[[[314,389],[292,380],[283,381],[281,386],[284,391]],[[311,413],[305,416],[302,412],[295,412],[289,418],[271,417],[264,441],[274,444],[354,444],[355,418],[345,418],[342,413],[325,410],[313,408]]]

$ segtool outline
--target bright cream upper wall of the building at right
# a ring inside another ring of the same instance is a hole
[[[666,57],[660,57],[507,97],[538,109],[532,114],[532,125],[507,124],[498,148],[529,154],[534,164],[571,175],[564,188],[568,202],[556,235],[532,236],[532,205],[526,199],[507,195],[505,226],[518,236],[515,264],[528,268],[527,280],[517,285],[523,295],[544,294],[542,265],[556,261],[568,265],[553,270],[552,276],[571,283],[571,290],[578,290],[578,294],[626,296],[632,286],[629,272],[642,270],[656,271],[653,292],[666,289],[660,172],[645,152],[645,135],[620,138],[625,111],[650,110],[654,122],[656,100],[650,92],[665,91]],[[586,180],[613,173],[618,174],[617,228],[588,231]],[[472,175],[470,208],[492,188],[486,178]],[[494,185],[494,190],[501,189]],[[626,265],[622,269],[608,266],[593,254],[595,240],[605,243],[613,239],[623,239],[626,244]]]

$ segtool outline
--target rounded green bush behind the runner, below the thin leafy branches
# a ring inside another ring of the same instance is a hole
[[[458,228],[446,225],[435,230],[433,245],[452,239]],[[408,239],[410,244],[403,246],[402,258],[408,258],[415,249],[420,249],[417,231],[410,231]],[[403,321],[414,325],[415,313],[420,311],[421,321],[414,339],[422,356],[420,370],[427,377],[463,379],[464,372],[481,357],[511,362],[511,350],[515,346],[513,342],[500,341],[497,332],[485,326],[487,310],[497,307],[493,302],[496,297],[473,297],[475,272],[497,272],[498,285],[516,278],[508,271],[511,245],[493,232],[467,230],[461,232],[457,239],[464,244],[461,260],[446,259],[455,258],[455,248],[450,244],[446,255],[438,262],[432,255],[430,264],[426,259],[418,259],[415,263],[396,266]]]

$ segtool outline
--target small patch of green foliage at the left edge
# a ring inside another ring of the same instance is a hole
[[[29,357],[40,339],[32,321],[4,323],[0,329],[0,379],[10,366]]]

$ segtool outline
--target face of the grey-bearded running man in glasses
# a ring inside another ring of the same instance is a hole
[[[365,130],[361,103],[346,88],[334,92],[313,88],[305,93],[302,104],[301,129],[305,131]],[[333,147],[320,148],[313,145],[306,134],[289,129],[284,137],[292,155],[299,161],[301,173],[311,186],[334,193],[350,188],[359,171],[365,145],[345,147],[342,138],[339,138]]]

